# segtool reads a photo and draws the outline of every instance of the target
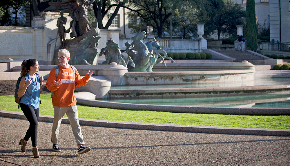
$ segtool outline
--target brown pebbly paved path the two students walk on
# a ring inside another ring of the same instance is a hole
[[[31,140],[26,152],[18,142],[29,122],[0,117],[0,165],[290,165],[289,136],[255,136],[120,129],[81,126],[91,150],[77,154],[69,124],[61,124],[59,147],[52,151],[51,122],[39,122],[37,146],[40,158],[32,157]]]

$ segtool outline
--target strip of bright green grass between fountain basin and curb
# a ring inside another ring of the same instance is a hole
[[[53,115],[50,93],[41,94],[39,113]],[[127,122],[162,123],[177,125],[248,127],[290,129],[290,116],[247,116],[196,113],[171,113],[159,111],[131,111],[77,105],[79,118],[115,120]],[[14,102],[14,96],[0,96],[0,109],[22,112]]]

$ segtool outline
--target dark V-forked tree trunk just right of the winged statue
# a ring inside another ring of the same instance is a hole
[[[97,18],[98,28],[100,29],[109,28],[109,26],[112,24],[113,19],[118,14],[120,7],[124,6],[124,4],[128,2],[128,0],[115,0],[114,3],[111,2],[113,2],[113,0],[96,0],[95,2],[93,2],[94,14]],[[110,14],[110,10],[114,10],[114,12]],[[104,26],[103,19],[105,16],[109,18],[107,24]]]

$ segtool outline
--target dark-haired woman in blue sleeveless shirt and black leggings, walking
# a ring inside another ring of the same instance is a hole
[[[21,73],[23,76],[19,83],[18,96],[19,105],[30,125],[23,139],[19,141],[21,150],[26,151],[26,143],[31,137],[32,155],[39,158],[37,149],[37,125],[39,119],[40,88],[43,84],[43,77],[36,73],[39,71],[39,65],[36,59],[24,60],[21,64]]]

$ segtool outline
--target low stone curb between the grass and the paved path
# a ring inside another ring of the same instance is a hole
[[[0,116],[9,118],[26,119],[23,113],[14,111],[0,110]],[[52,122],[53,116],[39,115],[39,121]],[[62,123],[69,124],[67,117],[64,117]],[[161,130],[161,131],[179,131],[194,133],[215,133],[215,134],[238,134],[238,135],[260,135],[260,136],[290,136],[288,129],[257,129],[240,127],[214,127],[214,126],[193,126],[193,125],[170,125],[139,122],[121,122],[108,120],[79,119],[80,125],[114,127],[126,129],[142,130]]]

